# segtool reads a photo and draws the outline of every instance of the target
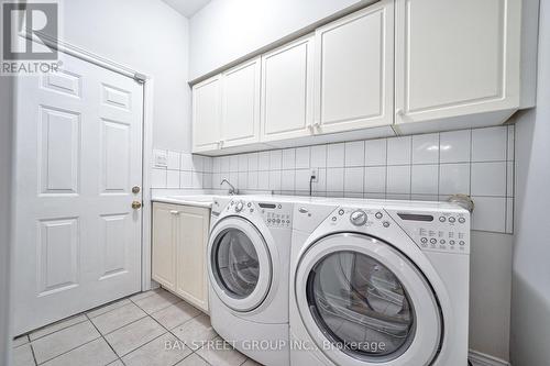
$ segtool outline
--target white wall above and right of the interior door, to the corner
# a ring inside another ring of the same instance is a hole
[[[64,0],[63,38],[154,78],[154,146],[190,151],[188,20],[161,0]]]

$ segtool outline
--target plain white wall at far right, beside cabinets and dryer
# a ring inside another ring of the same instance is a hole
[[[541,1],[537,108],[516,129],[516,237],[512,340],[514,366],[550,359],[550,2]]]

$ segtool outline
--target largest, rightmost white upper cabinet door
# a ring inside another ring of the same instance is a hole
[[[520,2],[397,0],[396,123],[518,107]]]

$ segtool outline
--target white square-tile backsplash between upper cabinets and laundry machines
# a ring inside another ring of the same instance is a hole
[[[512,233],[514,126],[496,126],[206,157],[167,152],[153,188],[475,202],[473,230]],[[155,152],[156,153],[156,152]],[[221,191],[220,191],[221,192]]]

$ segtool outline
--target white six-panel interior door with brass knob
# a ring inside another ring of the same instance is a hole
[[[142,86],[59,58],[16,80],[16,334],[141,289]]]

